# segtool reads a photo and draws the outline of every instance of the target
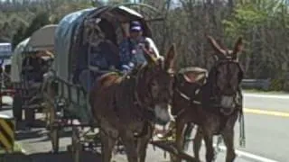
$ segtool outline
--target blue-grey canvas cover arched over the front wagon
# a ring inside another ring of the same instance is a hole
[[[105,15],[106,14],[106,15]],[[140,20],[144,26],[144,35],[151,37],[151,31],[144,22],[144,16],[138,14],[126,6],[120,5],[101,6],[98,8],[89,8],[77,11],[66,15],[59,23],[55,32],[55,71],[56,76],[62,80],[71,82],[72,59],[79,55],[77,61],[87,64],[85,52],[88,48],[83,41],[86,39],[83,33],[85,32],[85,21],[92,17],[110,17],[119,18],[121,21]],[[126,20],[125,20],[126,19]],[[113,31],[116,32],[116,31]],[[87,65],[83,65],[87,66]]]

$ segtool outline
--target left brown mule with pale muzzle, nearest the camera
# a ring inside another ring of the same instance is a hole
[[[89,94],[100,130],[102,162],[111,160],[118,139],[126,148],[129,162],[144,162],[153,123],[171,121],[174,46],[164,59],[150,55],[145,58],[147,64],[136,67],[131,74],[99,77]]]

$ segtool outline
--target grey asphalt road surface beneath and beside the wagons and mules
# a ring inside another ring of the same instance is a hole
[[[267,94],[245,94],[246,107],[246,148],[238,146],[238,123],[236,125],[236,148],[238,158],[237,162],[288,162],[289,161],[289,95],[267,95]],[[6,99],[5,99],[6,100]],[[250,110],[257,110],[250,112]],[[274,111],[274,112],[273,112]],[[262,113],[259,113],[262,112]],[[275,113],[279,112],[279,113]],[[11,111],[2,111],[2,113],[11,114]],[[41,123],[40,123],[41,124]],[[61,155],[51,155],[51,143],[47,137],[47,133],[43,129],[20,130],[17,132],[18,143],[21,144],[28,161],[62,161],[71,160],[71,155],[67,152]],[[70,144],[70,138],[61,138],[61,151],[66,150],[66,146]],[[224,147],[222,147],[224,148]],[[191,149],[191,147],[190,147]],[[191,155],[191,150],[189,151]],[[221,150],[217,156],[217,162],[225,161],[225,150]],[[85,153],[89,154],[89,153]],[[154,151],[149,146],[147,152],[147,160],[150,162],[169,161],[168,154],[163,157],[163,151],[156,148]],[[204,147],[200,154],[204,159]],[[83,155],[88,159],[81,161],[96,161],[96,155]],[[19,159],[19,158],[18,158]],[[48,160],[49,159],[49,160]],[[125,162],[124,155],[115,156],[117,162]],[[1,161],[1,158],[0,158]],[[12,160],[9,160],[9,162]],[[28,162],[27,161],[27,162]]]

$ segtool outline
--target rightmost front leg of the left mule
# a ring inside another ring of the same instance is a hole
[[[139,139],[137,139],[137,154],[139,158],[139,162],[145,162],[145,157],[146,157],[146,148],[148,145],[148,142],[152,138],[152,131],[153,128],[148,126],[148,133]]]

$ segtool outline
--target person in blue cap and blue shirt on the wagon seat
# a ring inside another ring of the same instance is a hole
[[[120,68],[121,71],[130,71],[133,67],[146,62],[144,54],[151,52],[147,47],[147,38],[143,36],[143,26],[138,21],[133,21],[129,26],[129,37],[123,40],[119,45]],[[152,40],[151,40],[152,41]],[[144,52],[144,46],[146,52]]]

